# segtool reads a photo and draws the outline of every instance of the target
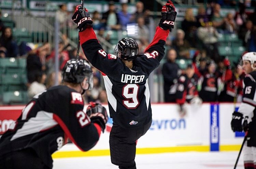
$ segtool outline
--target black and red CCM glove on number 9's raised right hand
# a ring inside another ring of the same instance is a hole
[[[160,28],[164,30],[170,30],[174,28],[174,21],[176,19],[177,12],[172,1],[168,0],[165,5],[162,6],[161,19],[159,22]]]

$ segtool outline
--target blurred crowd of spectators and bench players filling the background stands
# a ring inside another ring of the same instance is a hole
[[[243,42],[246,51],[256,51],[256,11],[246,12],[246,3],[239,3],[235,14],[221,15],[221,5],[210,2],[206,7],[199,6],[197,15],[193,9],[186,9],[181,26],[171,33],[166,42],[166,62],[159,67],[164,79],[164,101],[176,102],[183,105],[194,97],[204,102],[233,102],[234,98],[242,95],[242,78],[244,73],[239,62],[231,63],[226,56],[219,54],[219,34],[237,34]],[[63,32],[59,42],[59,50],[52,49],[52,44],[41,45],[22,42],[19,45],[12,35],[12,29],[5,27],[0,20],[0,57],[27,58],[27,78],[29,97],[54,86],[55,52],[58,52],[59,68],[76,56],[76,48],[68,41],[69,33],[66,27],[75,27],[70,20],[72,13],[67,11],[66,4],[60,5],[60,28]],[[1,16],[1,12],[0,12]],[[109,9],[104,13],[91,11],[94,29],[98,36],[109,41],[105,34],[107,30],[126,30],[127,24],[137,24],[138,34],[134,39],[139,44],[139,51],[149,42],[150,11],[144,9],[142,2],[136,3],[136,12],[128,11],[128,4],[122,3],[121,9],[116,10],[115,2],[109,2]],[[191,49],[193,53],[191,54]],[[80,57],[86,59],[83,52]],[[189,60],[185,69],[179,67],[176,59]],[[234,65],[231,67],[231,65]],[[58,75],[59,83],[61,75]],[[87,91],[86,102],[99,101],[107,103],[106,91],[102,89],[101,75],[94,68],[94,88]]]

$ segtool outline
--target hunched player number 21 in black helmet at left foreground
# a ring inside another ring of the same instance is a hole
[[[64,85],[35,95],[18,120],[0,139],[0,169],[51,169],[51,155],[70,139],[88,151],[99,140],[108,120],[106,109],[92,103],[83,111],[82,94],[92,88],[92,71],[84,60],[69,60]]]

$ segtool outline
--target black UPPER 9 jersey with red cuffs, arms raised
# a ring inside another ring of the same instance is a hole
[[[139,128],[152,119],[147,79],[165,54],[168,34],[169,30],[157,27],[153,41],[129,69],[117,56],[102,49],[92,28],[79,33],[86,58],[102,72],[114,124]]]

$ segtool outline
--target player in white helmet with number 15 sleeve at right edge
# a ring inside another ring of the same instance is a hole
[[[244,144],[244,168],[256,168],[256,52],[248,52],[242,56],[245,77],[243,79],[243,101],[232,114],[231,128],[233,132],[247,131]],[[244,119],[242,124],[242,119]]]

